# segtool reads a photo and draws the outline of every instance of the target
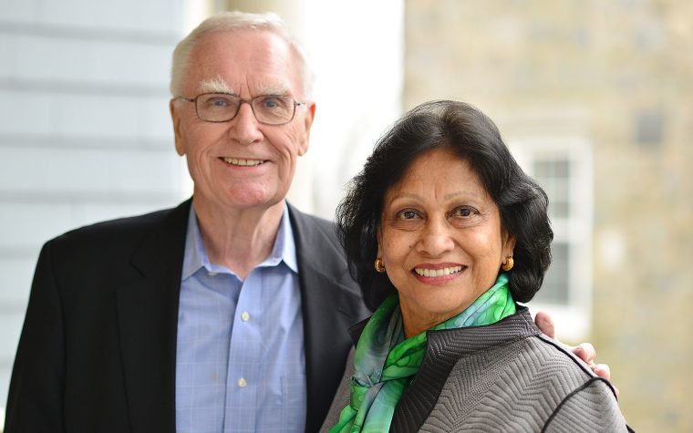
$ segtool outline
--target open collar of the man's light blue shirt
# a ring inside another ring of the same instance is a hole
[[[256,267],[277,266],[282,262],[294,273],[298,273],[294,231],[289,221],[289,208],[285,201],[282,220],[279,222],[279,230],[274,239],[272,252],[264,259],[263,263],[258,264]],[[196,273],[202,267],[210,273],[233,273],[221,264],[210,263],[209,256],[204,250],[204,242],[202,242],[202,233],[200,232],[197,214],[194,206],[191,205],[188,218],[188,232],[185,235],[185,256],[181,280],[191,277],[193,273]]]

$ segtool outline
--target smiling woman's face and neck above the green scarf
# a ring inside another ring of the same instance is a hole
[[[385,195],[378,256],[409,337],[460,314],[496,280],[514,239],[466,160],[432,149]]]

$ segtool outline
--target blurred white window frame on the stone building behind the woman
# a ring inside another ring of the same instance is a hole
[[[517,139],[509,143],[513,156],[527,174],[533,176],[535,160],[568,160],[569,213],[552,215],[554,241],[569,246],[568,301],[566,304],[528,303],[533,314],[551,314],[558,336],[566,342],[581,341],[592,323],[592,230],[594,207],[594,167],[592,145],[582,137],[542,137]],[[552,197],[549,197],[549,201]]]

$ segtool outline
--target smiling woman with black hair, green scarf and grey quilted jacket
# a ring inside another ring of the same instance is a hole
[[[325,430],[626,431],[614,388],[515,304],[551,263],[547,206],[468,104],[423,104],[378,141],[337,210],[375,313]]]

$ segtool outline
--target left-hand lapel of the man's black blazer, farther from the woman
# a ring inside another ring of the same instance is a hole
[[[132,255],[139,280],[117,292],[120,348],[133,432],[175,431],[178,304],[191,201],[163,217]]]

